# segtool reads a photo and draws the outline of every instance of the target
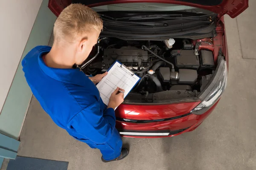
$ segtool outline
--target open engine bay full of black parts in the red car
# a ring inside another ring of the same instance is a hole
[[[124,103],[196,100],[216,68],[213,51],[199,48],[202,43],[212,46],[211,40],[126,41],[101,38],[98,47],[85,61],[83,71],[93,76],[102,74],[118,60],[141,77]]]

